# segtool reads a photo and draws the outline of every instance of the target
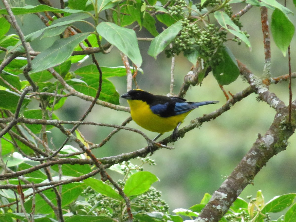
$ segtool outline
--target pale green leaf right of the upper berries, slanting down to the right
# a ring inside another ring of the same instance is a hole
[[[234,22],[229,18],[229,16],[225,12],[216,11],[214,13],[214,17],[223,28],[228,30],[234,36],[237,36],[238,38],[240,38],[245,44],[247,44],[247,46],[251,50],[251,43],[247,38],[247,36],[242,31],[239,30],[239,27],[236,24],[234,24]],[[229,29],[228,26],[230,26],[234,30]]]

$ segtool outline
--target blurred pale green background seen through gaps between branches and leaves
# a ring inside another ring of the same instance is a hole
[[[59,7],[58,0],[52,2],[54,6]],[[279,2],[281,4],[284,3],[284,1]],[[25,1],[25,3],[36,5],[38,1]],[[292,4],[292,1],[288,1],[287,3],[287,7],[295,12],[295,6]],[[235,4],[233,12],[238,12],[244,6],[245,4]],[[272,12],[269,10],[268,13],[270,17]],[[296,25],[295,16],[290,15],[290,18]],[[36,15],[25,15],[23,21],[22,30],[25,34],[36,31],[40,29],[40,27],[44,27],[44,24]],[[232,50],[235,57],[246,64],[255,75],[261,76],[264,66],[264,48],[259,8],[253,7],[250,9],[250,11],[241,18],[241,22],[244,25],[242,30],[247,30],[248,34],[250,34],[252,51],[250,52],[244,44],[238,46],[232,41],[229,41],[227,46]],[[89,26],[86,27],[84,24],[75,23],[75,25],[84,31],[90,30]],[[161,31],[162,27],[164,27],[164,25],[158,24],[158,31]],[[137,36],[152,37],[144,28],[141,31],[137,31]],[[49,47],[54,40],[53,38],[44,38],[41,39],[41,41],[33,41],[32,47],[35,51],[45,49]],[[292,71],[295,71],[296,68],[295,42],[296,38],[294,37],[291,45]],[[139,73],[137,76],[137,82],[140,88],[153,94],[167,94],[170,84],[171,59],[166,58],[164,53],[160,54],[157,60],[150,57],[147,54],[149,42],[139,42],[139,46],[143,57],[143,65],[141,68],[144,70],[143,75]],[[112,67],[123,65],[119,51],[116,48],[114,48],[110,54],[97,54],[96,57],[101,66]],[[276,48],[272,37],[271,62],[272,77],[288,73],[288,58],[283,57],[280,50]],[[90,63],[91,59],[88,59],[80,66]],[[184,75],[188,73],[191,67],[192,64],[184,59],[183,55],[176,57],[175,94],[178,94]],[[73,67],[73,70],[75,70],[75,67]],[[124,94],[126,92],[126,78],[114,77],[110,78],[110,80],[115,84],[119,94]],[[239,76],[235,82],[224,86],[224,89],[235,94],[242,91],[247,86],[248,84]],[[293,80],[293,99],[295,99],[295,89],[295,80]],[[271,85],[270,90],[279,96],[285,104],[288,103],[287,82]],[[203,106],[194,110],[188,115],[181,127],[189,124],[190,120],[194,118],[218,109],[226,102],[223,92],[211,73],[204,79],[201,86],[192,87],[187,92],[185,98],[188,101],[219,100],[220,103]],[[121,99],[120,104],[123,106],[128,105],[124,99]],[[62,120],[78,120],[89,105],[90,102],[82,101],[77,97],[70,97],[67,99],[64,107],[56,111],[56,114]],[[258,133],[265,134],[275,114],[276,112],[269,107],[268,104],[265,102],[257,102],[256,95],[251,94],[215,120],[204,123],[201,129],[194,129],[186,133],[184,138],[173,145],[168,144],[175,149],[161,149],[155,152],[152,159],[155,160],[157,165],[145,166],[144,170],[155,173],[160,179],[154,186],[162,191],[163,199],[169,204],[170,210],[175,208],[188,208],[199,203],[206,192],[212,194],[219,188],[221,183],[225,180],[225,177],[231,173],[255,142]],[[95,106],[86,120],[120,125],[128,117],[129,114],[126,112]],[[150,138],[154,138],[157,135],[156,133],[142,129],[134,122],[129,123],[128,126],[143,130]],[[94,143],[99,143],[112,131],[112,128],[94,126],[80,126],[79,129],[86,139]],[[161,138],[168,135],[169,133],[166,133]],[[65,139],[64,136],[55,129],[52,130],[49,137],[54,138],[54,144],[57,147]],[[78,147],[76,144],[73,145]],[[135,151],[146,145],[146,141],[139,134],[121,130],[102,148],[94,151],[94,154],[96,157],[118,155]],[[254,186],[247,186],[240,197],[244,199],[248,195],[253,195],[253,197],[255,197],[257,190],[261,189],[267,201],[276,195],[296,192],[295,146],[296,136],[292,135],[289,139],[287,150],[273,157],[255,177]],[[139,164],[138,160],[132,160],[132,162],[134,164]],[[115,178],[120,178],[117,174],[112,175],[114,175]]]

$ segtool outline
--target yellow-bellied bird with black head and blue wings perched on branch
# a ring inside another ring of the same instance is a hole
[[[141,89],[132,89],[120,97],[127,99],[131,107],[132,119],[144,129],[160,133],[173,131],[173,138],[178,139],[177,131],[185,117],[195,108],[219,101],[186,102],[176,96],[153,95]]]

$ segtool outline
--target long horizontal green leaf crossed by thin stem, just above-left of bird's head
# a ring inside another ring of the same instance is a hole
[[[109,78],[114,76],[126,76],[126,68],[124,66],[118,66],[118,67],[105,67],[101,66],[102,70],[102,78]],[[143,70],[138,68],[138,71],[143,72]],[[75,71],[76,75],[79,75],[85,79],[87,78],[99,78],[99,71],[94,64],[86,65],[81,68],[76,69]],[[133,69],[131,69],[131,72],[133,73]]]

